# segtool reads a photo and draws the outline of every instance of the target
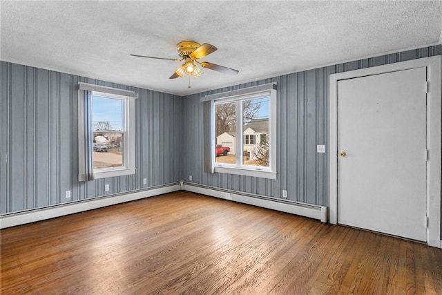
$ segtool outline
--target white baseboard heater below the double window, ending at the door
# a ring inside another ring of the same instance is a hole
[[[328,221],[327,207],[321,205],[307,204],[291,200],[281,200],[279,198],[260,196],[253,193],[242,193],[240,191],[232,191],[229,189],[220,189],[218,187],[210,187],[192,182],[181,182],[181,186],[184,191],[201,193],[202,195],[222,198],[224,200],[231,200],[244,204],[251,204],[253,206],[273,209],[276,211],[296,214],[299,216],[314,218],[320,220],[321,222]]]

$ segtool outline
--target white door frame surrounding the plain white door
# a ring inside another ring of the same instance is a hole
[[[427,245],[442,248],[441,241],[441,157],[442,157],[442,56],[401,61],[329,76],[330,87],[330,223],[338,224],[338,81],[427,67]],[[422,87],[425,87],[423,85]]]

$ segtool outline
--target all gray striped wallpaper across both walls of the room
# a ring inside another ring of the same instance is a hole
[[[189,181],[189,175],[198,184],[276,198],[287,189],[290,200],[328,206],[329,154],[316,153],[316,144],[329,142],[329,75],[441,54],[441,45],[431,46],[187,97],[1,61],[0,213]],[[77,82],[139,93],[135,175],[77,182]],[[204,173],[200,97],[270,82],[278,84],[278,179]]]

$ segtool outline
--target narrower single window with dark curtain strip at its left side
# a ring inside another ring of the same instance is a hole
[[[130,91],[80,84],[80,181],[135,173],[134,96]]]

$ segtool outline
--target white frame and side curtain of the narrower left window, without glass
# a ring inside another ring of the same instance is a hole
[[[135,93],[121,89],[91,84],[79,83],[78,91],[78,139],[79,139],[79,181],[84,181],[84,91],[89,90],[92,95],[122,100],[123,126],[123,166],[94,169],[94,178],[110,178],[135,174]],[[94,130],[90,130],[91,133]]]

